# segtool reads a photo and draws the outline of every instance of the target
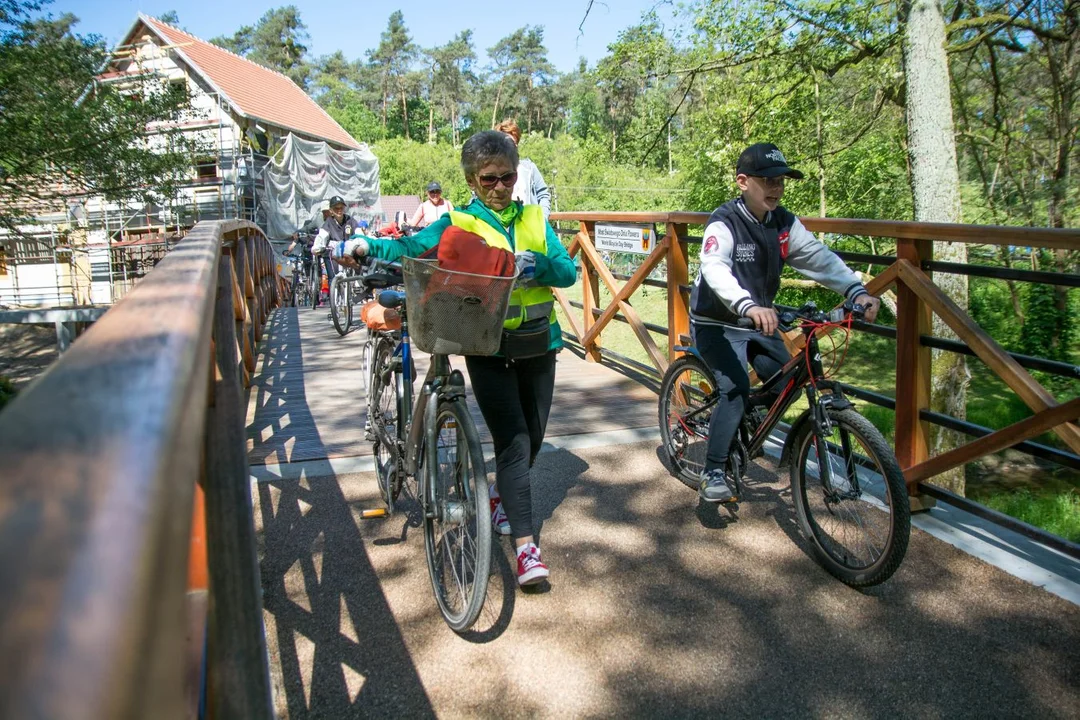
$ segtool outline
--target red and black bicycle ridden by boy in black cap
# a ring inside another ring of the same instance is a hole
[[[805,390],[810,407],[792,423],[780,466],[791,466],[795,514],[814,558],[853,587],[888,580],[903,561],[910,534],[907,489],[892,449],[823,369],[819,337],[843,335],[841,343],[834,344],[835,353],[843,351],[834,355],[835,371],[846,354],[851,323],[862,316],[863,309],[850,302],[832,313],[812,302],[781,313],[784,331],[800,321],[804,347],[752,390],[727,467],[739,497],[746,465],[761,454],[773,429]],[[753,327],[752,321],[743,321],[741,327]],[[697,489],[718,393],[697,349],[676,350],[685,354],[669,366],[660,385],[660,434],[675,474]]]

